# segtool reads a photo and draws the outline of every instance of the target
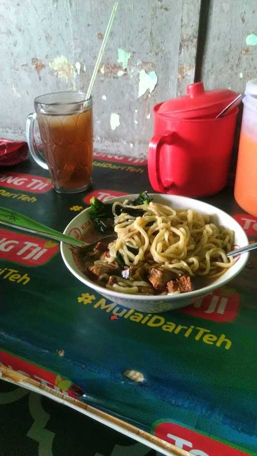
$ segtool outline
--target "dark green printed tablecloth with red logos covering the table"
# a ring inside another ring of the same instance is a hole
[[[53,191],[47,171],[29,158],[0,169],[0,205],[59,231],[92,195],[145,189],[152,191],[146,162],[107,155],[94,158],[92,188],[73,195]],[[232,180],[203,200],[256,240],[257,219],[234,201]],[[252,252],[227,286],[149,326],[77,281],[57,243],[2,225],[0,361],[191,454],[257,454],[256,267]],[[163,329],[168,322],[177,331]],[[205,334],[216,341],[204,342]],[[125,377],[127,369],[144,382]]]

